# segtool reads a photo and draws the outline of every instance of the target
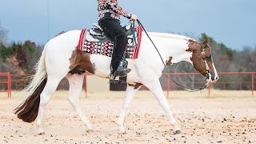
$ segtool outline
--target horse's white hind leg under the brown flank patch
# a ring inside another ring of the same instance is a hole
[[[89,131],[93,130],[93,127],[90,124],[90,121],[88,118],[86,118],[86,115],[83,114],[80,106],[79,96],[82,91],[82,82],[84,75],[68,75],[66,76],[68,81],[70,82],[70,96],[68,100],[70,101],[71,105],[74,107],[74,109],[77,111],[78,116],[82,119],[82,122],[88,127]]]

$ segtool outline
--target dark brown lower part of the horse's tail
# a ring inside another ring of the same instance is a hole
[[[38,117],[38,109],[40,104],[40,94],[45,88],[47,78],[45,78],[40,85],[34,90],[33,94],[26,101],[22,102],[15,110],[14,114],[17,114],[19,119],[23,122],[34,122],[35,118]]]

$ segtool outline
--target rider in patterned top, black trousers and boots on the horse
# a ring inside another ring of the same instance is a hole
[[[127,35],[120,25],[120,15],[137,20],[135,14],[129,14],[118,6],[118,0],[98,0],[98,24],[106,37],[114,41],[114,52],[111,60],[111,76],[126,77],[130,69],[123,68],[122,56],[126,50]]]

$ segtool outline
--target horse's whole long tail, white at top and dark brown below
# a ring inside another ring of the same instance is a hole
[[[28,93],[29,97],[14,110],[14,114],[17,114],[18,118],[22,119],[23,122],[34,122],[35,118],[38,116],[40,94],[47,82],[45,62],[46,48],[47,44],[42,51],[40,60],[35,66],[36,74],[30,84],[23,90]]]

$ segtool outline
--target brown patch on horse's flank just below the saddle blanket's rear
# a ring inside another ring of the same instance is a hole
[[[90,62],[90,55],[78,49],[74,50],[70,58],[70,74],[83,74],[86,71],[94,74],[95,66]]]

